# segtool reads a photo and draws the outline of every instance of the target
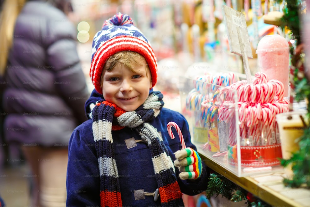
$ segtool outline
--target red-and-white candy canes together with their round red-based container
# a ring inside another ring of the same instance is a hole
[[[218,108],[218,119],[228,124],[230,164],[237,163],[236,145],[239,137],[241,166],[257,167],[279,163],[277,157],[281,156],[281,145],[276,115],[289,111],[290,104],[289,100],[284,99],[283,83],[269,80],[264,73],[256,73],[252,84],[237,81],[228,87],[219,88],[210,103],[221,103]],[[236,112],[239,115],[238,123],[235,119]],[[206,111],[207,114],[209,119],[212,119],[212,113]]]

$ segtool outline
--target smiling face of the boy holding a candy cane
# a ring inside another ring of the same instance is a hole
[[[152,82],[150,71],[143,66],[134,68],[117,66],[110,71],[103,71],[102,94],[106,101],[115,103],[125,111],[134,111],[148,98]]]

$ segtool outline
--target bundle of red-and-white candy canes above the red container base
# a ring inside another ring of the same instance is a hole
[[[280,144],[276,115],[289,111],[289,100],[284,99],[284,86],[278,80],[268,80],[264,73],[256,73],[253,84],[238,81],[220,88],[213,103],[220,102],[218,119],[229,123],[228,144],[235,145],[235,96],[239,112],[241,145],[263,146]]]

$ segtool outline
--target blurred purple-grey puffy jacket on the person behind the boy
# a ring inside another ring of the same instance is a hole
[[[16,20],[4,83],[6,141],[67,147],[74,128],[87,119],[89,92],[76,29],[62,11],[47,2],[25,4]]]

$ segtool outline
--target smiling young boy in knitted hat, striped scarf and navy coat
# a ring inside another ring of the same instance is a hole
[[[113,16],[95,35],[90,76],[89,120],[69,142],[67,206],[184,206],[182,193],[203,192],[206,166],[188,123],[153,92],[157,60],[129,16]],[[175,131],[170,138],[170,121],[186,149]]]

